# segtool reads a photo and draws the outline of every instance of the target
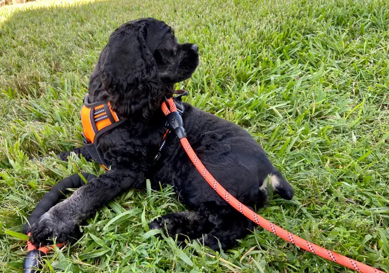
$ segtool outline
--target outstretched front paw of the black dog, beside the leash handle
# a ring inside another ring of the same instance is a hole
[[[66,223],[48,211],[30,227],[30,241],[35,246],[51,244],[53,239],[62,243],[74,232],[75,227],[76,225]]]

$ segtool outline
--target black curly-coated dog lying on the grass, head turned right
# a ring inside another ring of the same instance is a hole
[[[154,162],[166,130],[161,103],[171,98],[174,84],[191,76],[199,63],[198,46],[177,42],[174,31],[152,18],[128,22],[116,29],[89,80],[89,101],[110,101],[127,121],[100,139],[111,170],[92,179],[70,198],[45,213],[30,228],[33,244],[48,238],[65,241],[78,224],[105,202],[130,188],[171,184],[190,211],[155,219],[152,229],[166,230],[179,240],[189,237],[212,249],[231,247],[253,230],[254,223],[236,212],[206,183],[171,133]],[[274,168],[264,150],[244,129],[184,104],[187,139],[219,183],[242,203],[257,208],[267,201],[267,177],[285,199],[293,188]],[[74,152],[91,159],[83,148]],[[59,157],[66,159],[69,152]],[[218,240],[217,240],[218,239]]]

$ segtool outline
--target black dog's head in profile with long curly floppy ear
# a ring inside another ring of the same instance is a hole
[[[198,64],[198,46],[178,43],[164,22],[130,21],[111,34],[90,76],[89,95],[111,101],[121,116],[148,119]]]

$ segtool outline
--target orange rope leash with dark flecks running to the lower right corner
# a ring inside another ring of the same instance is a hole
[[[172,112],[177,111],[175,104],[174,104],[174,101],[172,99],[169,99],[168,103],[169,103],[171,110],[169,110],[167,108],[165,103],[162,104],[162,111],[165,113],[165,115],[169,114],[171,111]],[[201,175],[207,180],[207,183],[218,193],[218,195],[221,198],[223,198],[228,204],[230,204],[234,209],[236,209],[240,213],[244,214],[247,218],[249,218],[253,222],[262,226],[262,228],[264,228],[265,230],[267,230],[271,233],[274,233],[275,235],[284,239],[285,241],[288,241],[288,242],[290,242],[298,247],[301,247],[302,249],[305,249],[313,254],[316,254],[322,258],[336,262],[338,264],[342,264],[346,267],[357,270],[359,272],[365,272],[365,273],[382,272],[382,271],[375,269],[369,265],[366,265],[366,264],[361,263],[359,261],[350,259],[346,256],[341,255],[341,254],[337,254],[335,252],[332,252],[330,250],[322,248],[322,247],[315,245],[313,243],[310,243],[310,242],[304,240],[303,238],[300,238],[299,236],[291,234],[290,232],[280,228],[278,225],[275,225],[272,222],[263,218],[262,216],[258,215],[257,213],[255,213],[254,211],[252,211],[251,209],[246,207],[244,204],[240,203],[232,195],[230,195],[218,183],[218,181],[216,181],[216,179],[212,176],[212,174],[207,170],[207,168],[203,165],[203,163],[197,157],[196,153],[193,151],[192,147],[190,146],[190,144],[186,138],[182,138],[180,140],[180,142],[181,142],[181,145],[184,148],[186,154],[188,155],[188,157],[192,161],[193,165],[201,173]]]

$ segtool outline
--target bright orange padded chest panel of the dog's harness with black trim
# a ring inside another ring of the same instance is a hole
[[[99,149],[100,136],[123,123],[126,119],[120,118],[111,107],[110,102],[89,103],[88,95],[84,98],[81,107],[82,137],[84,147],[89,155],[108,170],[109,163],[103,158]]]

